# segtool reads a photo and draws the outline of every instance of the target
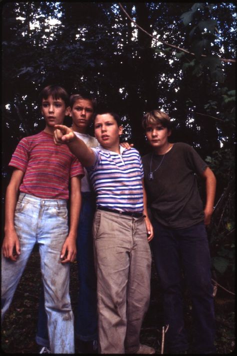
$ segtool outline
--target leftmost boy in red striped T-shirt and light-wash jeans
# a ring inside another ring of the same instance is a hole
[[[72,262],[76,254],[80,179],[84,172],[66,145],[59,147],[53,143],[54,125],[62,124],[64,116],[69,113],[65,89],[57,85],[47,86],[39,94],[39,102],[45,128],[36,135],[23,138],[9,163],[14,170],[5,198],[1,312],[3,318],[37,243],[50,350],[52,353],[74,353],[68,262]]]

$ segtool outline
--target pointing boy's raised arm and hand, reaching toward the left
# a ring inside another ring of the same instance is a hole
[[[78,138],[74,132],[67,126],[55,125],[54,142],[55,144],[66,143],[69,150],[79,159],[85,167],[93,165],[95,155],[90,147]]]

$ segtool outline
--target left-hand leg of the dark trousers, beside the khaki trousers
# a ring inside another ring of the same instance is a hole
[[[152,221],[151,249],[163,295],[164,324],[169,325],[165,344],[169,352],[188,348],[183,319],[181,261],[175,232]]]

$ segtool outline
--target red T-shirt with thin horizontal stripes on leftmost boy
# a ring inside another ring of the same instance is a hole
[[[22,138],[9,165],[24,172],[20,192],[45,199],[68,199],[69,177],[84,175],[67,145],[55,145],[44,131]]]

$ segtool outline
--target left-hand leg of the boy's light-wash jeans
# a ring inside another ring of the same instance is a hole
[[[11,261],[1,258],[1,320],[13,298],[15,289],[26,266],[29,255],[35,244],[38,210],[23,200],[19,195],[14,213],[14,226],[20,243],[20,255]],[[30,214],[29,214],[30,212]]]

